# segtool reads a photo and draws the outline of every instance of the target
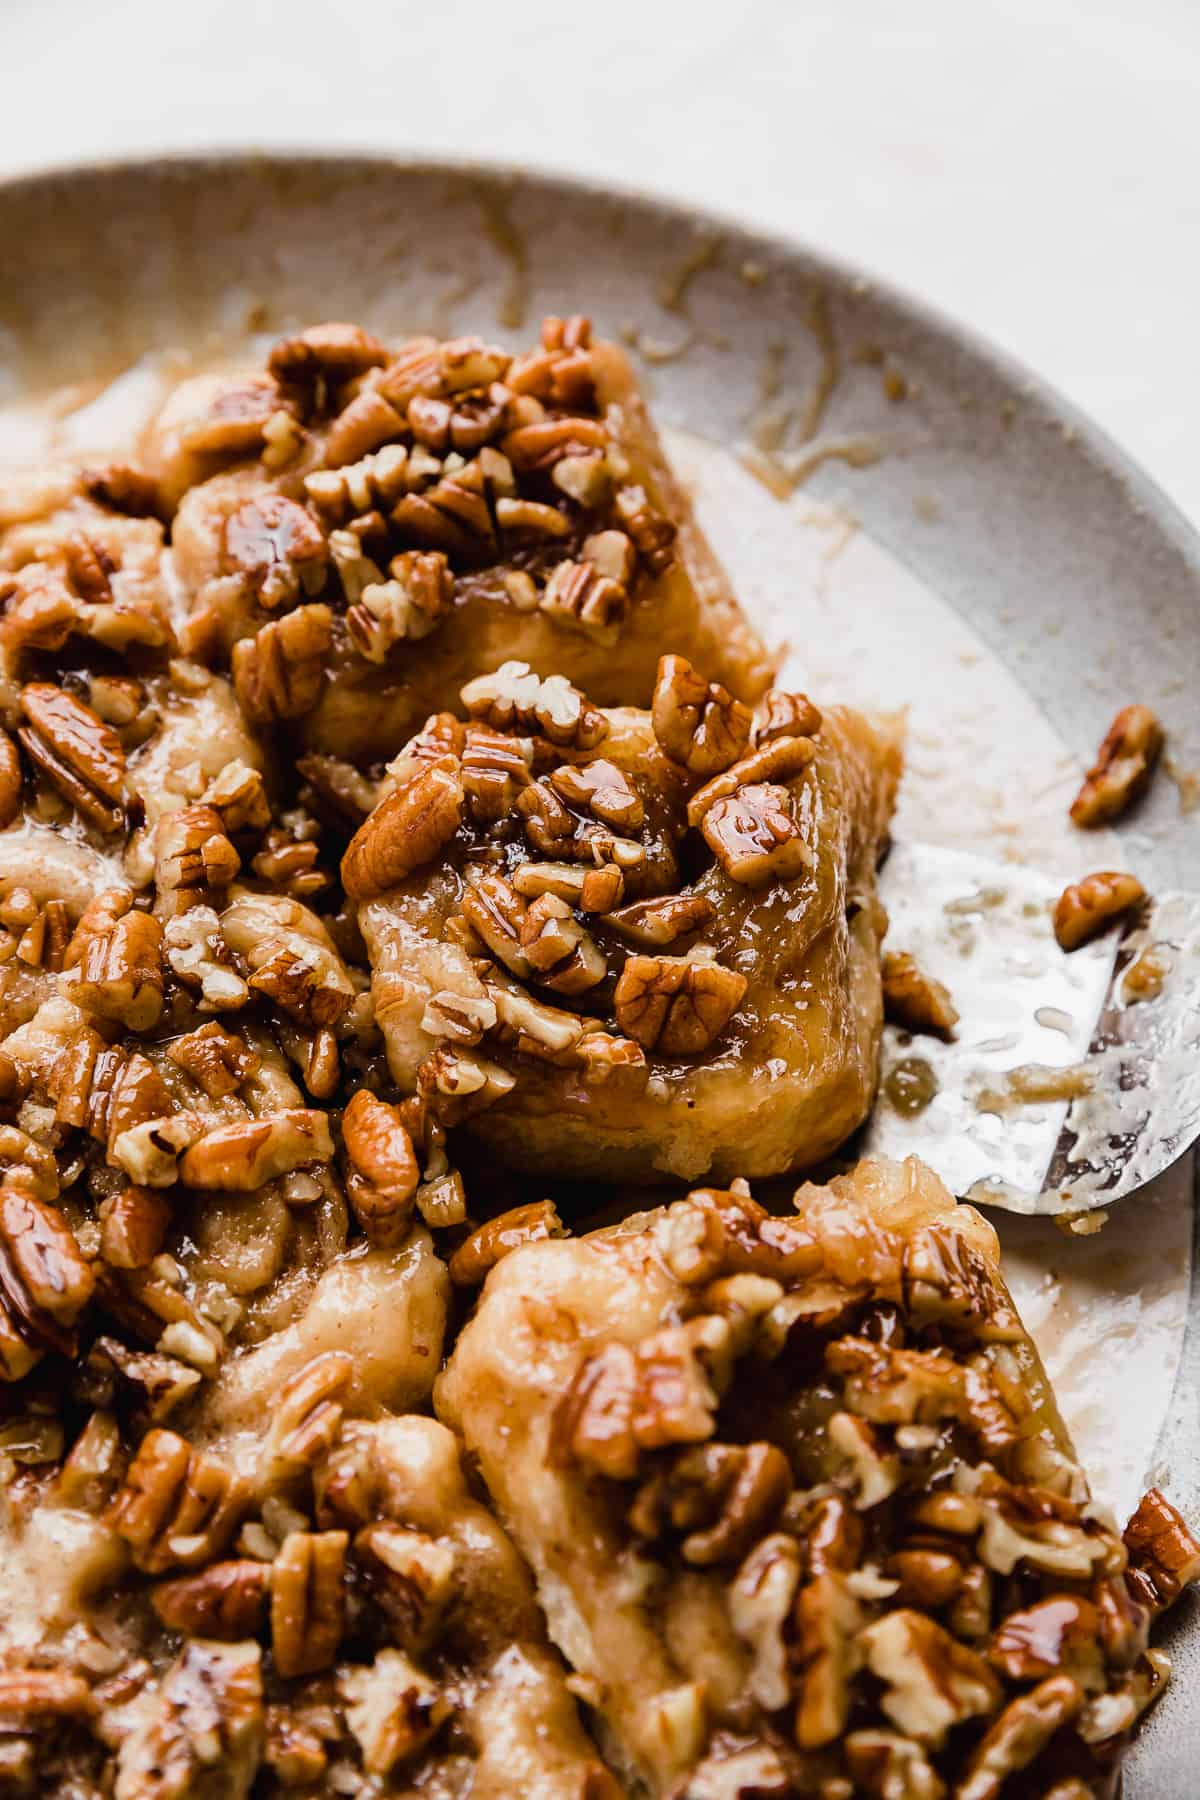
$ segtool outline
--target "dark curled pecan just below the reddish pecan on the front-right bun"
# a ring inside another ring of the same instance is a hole
[[[642,1537],[685,1532],[685,1562],[739,1562],[792,1490],[788,1458],[774,1444],[702,1444],[646,1481],[630,1523]]]

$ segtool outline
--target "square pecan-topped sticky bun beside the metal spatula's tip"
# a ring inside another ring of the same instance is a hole
[[[464,697],[475,722],[430,722],[344,860],[399,1087],[563,1177],[835,1150],[876,1084],[891,722],[772,691],[752,745],[680,657],[653,715],[516,664]]]

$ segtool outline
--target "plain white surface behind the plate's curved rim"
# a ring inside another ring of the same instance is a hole
[[[358,144],[793,232],[1033,364],[1200,520],[1200,0],[0,0],[0,173]]]

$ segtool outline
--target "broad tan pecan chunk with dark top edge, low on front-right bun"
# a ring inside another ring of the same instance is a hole
[[[955,1724],[988,1717],[1000,1705],[1000,1683],[982,1656],[910,1607],[876,1618],[858,1634],[858,1645],[883,1683],[880,1705],[887,1717],[932,1750]]]

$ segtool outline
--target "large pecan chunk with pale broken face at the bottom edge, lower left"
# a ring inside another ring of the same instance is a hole
[[[117,1748],[115,1800],[248,1795],[263,1755],[257,1643],[189,1640]]]

